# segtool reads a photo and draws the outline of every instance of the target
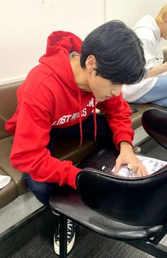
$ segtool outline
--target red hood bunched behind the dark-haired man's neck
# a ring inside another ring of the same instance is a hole
[[[41,64],[50,67],[73,92],[78,91],[78,86],[69,62],[69,54],[71,52],[81,54],[81,44],[82,40],[73,33],[55,31],[47,38],[46,53],[39,59]]]

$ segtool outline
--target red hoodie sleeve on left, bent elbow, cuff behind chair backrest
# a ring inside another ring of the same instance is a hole
[[[28,172],[33,180],[57,182],[76,188],[80,171],[69,160],[58,160],[46,148],[50,141],[52,107],[26,93],[20,103],[16,132],[11,149],[11,165]]]

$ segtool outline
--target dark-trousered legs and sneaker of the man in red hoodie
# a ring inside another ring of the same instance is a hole
[[[113,134],[108,127],[108,123],[102,114],[96,115],[96,124],[97,124],[97,141],[102,146],[113,147]],[[94,140],[94,120],[93,113],[82,122],[82,131],[84,139]],[[57,138],[79,138],[80,139],[80,129],[79,124],[69,127],[67,129],[52,129],[50,131],[50,142],[47,148],[50,150],[51,155],[53,156],[53,144]],[[52,192],[56,192],[58,184],[56,183],[47,183],[47,182],[37,182],[34,181],[29,174],[24,174],[24,179],[28,182],[28,188],[31,192],[35,194],[35,197],[49,206],[49,199]],[[67,253],[70,252],[71,248],[74,245],[75,232],[74,232],[74,221],[67,220]],[[54,233],[54,251],[59,254],[59,227]]]

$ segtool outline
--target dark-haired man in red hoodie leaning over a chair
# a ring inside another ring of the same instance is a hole
[[[71,161],[52,157],[52,139],[57,137],[108,139],[120,151],[115,172],[132,163],[133,172],[146,175],[132,151],[132,112],[121,93],[123,83],[143,78],[144,65],[142,43],[119,20],[96,28],[84,42],[62,31],[48,37],[46,54],[18,88],[18,107],[6,122],[14,136],[11,165],[25,172],[30,191],[43,204],[48,205],[58,185],[76,188],[80,171]],[[96,117],[96,107],[105,117]],[[69,220],[67,240],[69,252],[74,245],[74,223]],[[59,233],[54,250],[59,254]]]

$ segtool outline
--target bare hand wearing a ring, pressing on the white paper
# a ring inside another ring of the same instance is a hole
[[[148,175],[142,162],[134,155],[132,146],[128,142],[122,141],[120,143],[120,155],[117,157],[113,172],[116,174],[120,170],[121,165],[125,164],[132,164],[132,169],[129,169],[129,172],[137,173],[139,177]]]

